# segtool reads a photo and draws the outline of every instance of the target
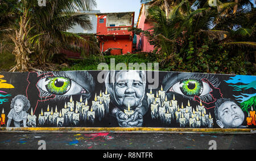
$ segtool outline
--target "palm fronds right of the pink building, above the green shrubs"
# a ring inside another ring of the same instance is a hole
[[[162,66],[167,62],[175,65],[174,59],[184,63],[195,58],[194,52],[189,49],[196,50],[205,44],[209,45],[209,48],[214,48],[214,45],[255,48],[255,41],[237,41],[237,38],[241,37],[237,36],[239,33],[243,36],[252,35],[255,20],[249,20],[250,25],[244,28],[248,13],[240,11],[236,15],[226,14],[234,5],[236,3],[228,2],[210,7],[208,1],[181,1],[172,6],[168,16],[162,7],[155,6],[148,10],[154,23],[154,27],[151,28],[153,32],[138,28],[133,30],[148,37],[150,44],[155,46],[155,53],[158,53]],[[253,15],[251,18],[255,19]],[[233,30],[235,26],[240,26],[236,32]]]

